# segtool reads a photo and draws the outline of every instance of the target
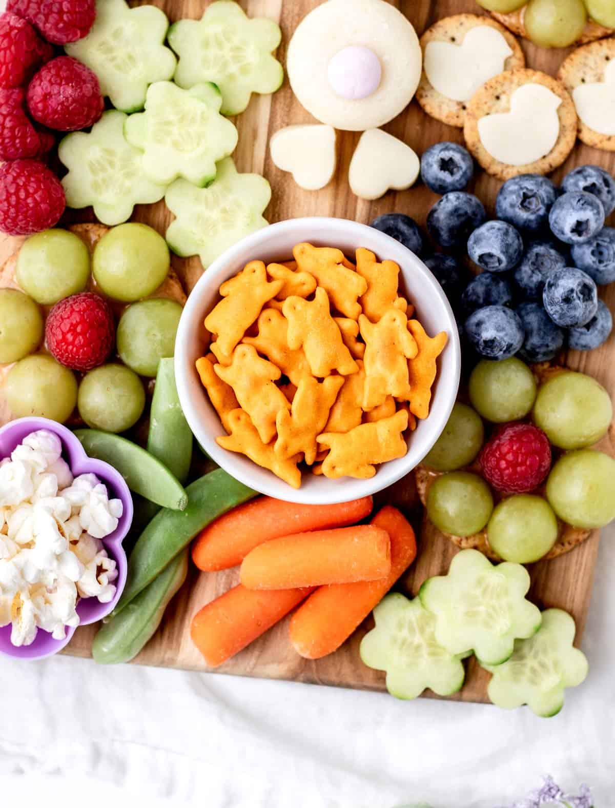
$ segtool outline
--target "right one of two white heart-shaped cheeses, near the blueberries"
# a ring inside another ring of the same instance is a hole
[[[368,129],[352,155],[348,180],[356,196],[377,200],[391,188],[403,191],[414,185],[419,170],[419,158],[409,145],[382,129]]]

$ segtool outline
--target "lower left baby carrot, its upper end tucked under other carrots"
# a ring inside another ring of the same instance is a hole
[[[311,589],[259,592],[230,589],[192,618],[190,636],[210,667],[217,667],[249,646],[301,603]]]

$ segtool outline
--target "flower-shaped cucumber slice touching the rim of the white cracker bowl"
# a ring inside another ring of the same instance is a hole
[[[217,164],[216,179],[207,188],[176,179],[165,196],[176,217],[166,242],[176,255],[199,255],[207,269],[230,246],[268,225],[262,214],[271,196],[264,177],[238,174],[230,157]]]

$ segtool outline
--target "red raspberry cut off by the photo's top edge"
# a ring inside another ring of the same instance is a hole
[[[95,0],[8,0],[6,9],[27,19],[57,45],[81,40],[96,17]]]

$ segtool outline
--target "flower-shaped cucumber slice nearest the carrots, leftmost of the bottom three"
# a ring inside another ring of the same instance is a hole
[[[415,699],[425,688],[439,696],[461,690],[461,660],[436,642],[436,617],[419,598],[398,592],[386,595],[373,610],[376,628],[365,634],[360,657],[365,665],[386,671],[386,689],[398,699]]]

